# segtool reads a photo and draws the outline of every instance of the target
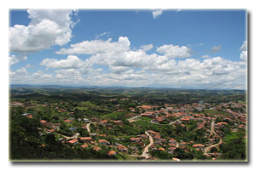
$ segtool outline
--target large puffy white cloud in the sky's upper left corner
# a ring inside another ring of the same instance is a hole
[[[9,28],[9,49],[16,53],[32,53],[53,45],[62,46],[72,37],[73,10],[28,9],[28,26]]]

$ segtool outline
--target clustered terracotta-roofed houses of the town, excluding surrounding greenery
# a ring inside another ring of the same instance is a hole
[[[112,99],[111,101],[115,100],[116,99]],[[19,102],[12,102],[11,105],[20,106],[23,104]],[[73,111],[68,111],[67,109],[63,109],[58,106],[53,109],[60,114],[66,112],[71,115],[73,114]],[[139,112],[136,113],[136,110]],[[124,110],[119,109],[116,111],[119,112]],[[220,138],[224,138],[224,127],[230,127],[232,132],[237,132],[239,129],[247,128],[246,105],[234,102],[221,103],[219,105],[211,105],[204,102],[193,103],[191,105],[166,104],[164,107],[160,107],[159,105],[138,105],[136,108],[130,107],[129,111],[129,113],[124,115],[125,118],[136,117],[137,119],[141,119],[143,117],[148,117],[148,122],[160,125],[166,124],[174,127],[181,126],[187,128],[187,130],[189,130],[187,124],[194,121],[197,125],[196,129],[205,130],[207,143],[195,144],[194,141],[178,141],[172,136],[170,136],[168,139],[162,138],[160,133],[149,129],[147,132],[154,139],[154,144],[151,145],[149,150],[167,151],[170,154],[174,154],[177,148],[183,149],[185,152],[189,152],[192,149],[204,151],[206,147],[210,146],[211,144],[217,144]],[[34,115],[34,113],[23,114],[23,116],[27,116],[28,118],[32,118]],[[218,118],[221,120],[221,122],[216,122]],[[84,118],[75,120],[73,116],[66,115],[60,117],[60,119],[68,125],[72,132],[75,132],[75,130],[79,128],[73,125],[74,122],[80,122],[80,124],[82,123],[82,126],[80,127],[87,131],[88,128],[86,125],[88,123],[94,123],[96,126],[102,125],[108,129],[112,128],[113,126],[123,126],[124,124],[124,122],[121,120],[109,120],[97,117],[87,118],[85,116]],[[214,122],[214,125],[212,125],[212,122]],[[108,146],[111,148],[111,150],[108,151],[109,156],[115,156],[118,153],[138,154],[141,153],[139,152],[138,148],[143,148],[149,143],[148,136],[146,134],[138,134],[137,136],[131,137],[128,144],[110,143],[107,139],[105,139],[106,136],[108,136],[107,133],[97,134],[89,132],[89,136],[81,136],[79,133],[73,133],[73,136],[68,137],[59,133],[61,123],[47,122],[45,120],[40,120],[40,123],[44,127],[44,133],[58,134],[61,136],[59,140],[65,144],[69,144],[71,147],[78,144],[81,149],[93,147],[93,150],[99,151],[102,149],[103,145]],[[212,126],[214,126],[216,133],[212,133]],[[95,139],[94,137],[96,136],[102,139]],[[42,146],[43,145],[44,144],[42,144]],[[215,153],[215,155],[218,154],[219,153]]]

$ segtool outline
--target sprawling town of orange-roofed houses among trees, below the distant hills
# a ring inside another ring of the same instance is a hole
[[[192,103],[187,96],[184,104],[151,101],[154,98],[145,94],[127,97],[98,91],[94,95],[101,96],[99,99],[79,101],[63,100],[65,95],[73,95],[65,93],[45,101],[41,94],[13,94],[13,159],[19,159],[15,151],[27,142],[37,152],[26,157],[28,160],[246,160],[247,104],[241,100],[243,94],[240,100],[218,103],[203,99]],[[32,129],[38,134],[32,134]],[[30,132],[26,134],[26,130]]]

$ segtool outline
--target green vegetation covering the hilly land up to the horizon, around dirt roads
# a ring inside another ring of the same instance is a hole
[[[242,127],[246,125],[242,121],[246,115],[244,91],[15,87],[11,89],[10,102],[11,160],[141,161],[144,159],[140,157],[143,149],[149,144],[145,135],[148,130],[154,132],[151,134],[154,144],[149,148],[148,156],[159,161],[172,158],[182,161],[247,158],[246,132]],[[228,105],[221,105],[221,102],[228,102]],[[142,105],[156,106],[140,110],[137,106]],[[201,105],[205,107],[198,109]],[[180,108],[185,111],[180,111]],[[232,116],[225,111],[226,108],[237,111],[239,116]],[[158,113],[158,116],[164,117],[164,121],[152,122],[154,115],[140,116],[146,111]],[[177,116],[177,113],[183,115]],[[139,117],[131,121],[129,118],[132,116]],[[190,120],[183,121],[183,117]],[[214,136],[215,139],[211,137],[210,141],[213,117],[215,123],[227,124],[215,126],[218,135]],[[87,129],[89,122],[90,133]],[[202,122],[205,124],[199,128]],[[154,136],[155,133],[158,136]],[[91,139],[83,141],[81,137]],[[203,144],[207,147],[217,144],[220,138],[224,143],[209,150],[216,156],[206,156],[203,149],[193,146]],[[100,143],[102,139],[109,144]],[[169,143],[170,139],[175,139],[177,144]],[[180,145],[182,143],[185,143],[183,147]],[[119,150],[119,145],[127,150]],[[172,147],[175,149],[172,150]],[[116,155],[108,154],[110,150],[115,151]]]

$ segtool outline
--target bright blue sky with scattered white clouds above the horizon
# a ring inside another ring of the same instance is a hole
[[[246,89],[247,11],[10,9],[9,65],[11,84]]]

